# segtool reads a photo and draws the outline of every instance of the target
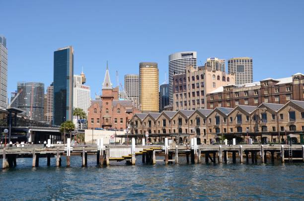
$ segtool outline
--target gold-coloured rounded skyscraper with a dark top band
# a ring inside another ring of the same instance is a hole
[[[140,106],[143,113],[158,112],[158,68],[157,63],[142,62],[139,66]]]

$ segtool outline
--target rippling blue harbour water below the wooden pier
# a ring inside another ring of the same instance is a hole
[[[96,156],[81,166],[56,168],[40,158],[18,158],[17,167],[0,171],[0,200],[304,200],[304,164],[186,164],[136,166],[110,161],[95,167]],[[204,158],[203,160],[204,161]],[[229,161],[228,161],[229,162]],[[0,164],[2,161],[0,160]]]

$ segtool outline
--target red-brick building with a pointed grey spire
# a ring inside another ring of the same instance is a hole
[[[88,129],[125,130],[135,113],[140,111],[131,100],[118,99],[118,87],[112,88],[108,68],[99,100],[92,100],[88,108]]]

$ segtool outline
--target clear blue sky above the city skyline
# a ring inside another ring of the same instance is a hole
[[[8,93],[17,81],[53,81],[53,52],[72,45],[91,96],[100,93],[106,61],[116,85],[157,62],[159,83],[168,55],[253,58],[253,79],[304,73],[304,0],[0,0],[0,35],[7,39]],[[202,63],[201,63],[201,62]]]

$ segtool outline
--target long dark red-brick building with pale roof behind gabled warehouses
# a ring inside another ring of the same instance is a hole
[[[304,101],[304,74],[266,78],[259,82],[221,86],[207,94],[207,108],[234,108],[237,105],[259,106],[261,103],[286,104],[289,100]]]

